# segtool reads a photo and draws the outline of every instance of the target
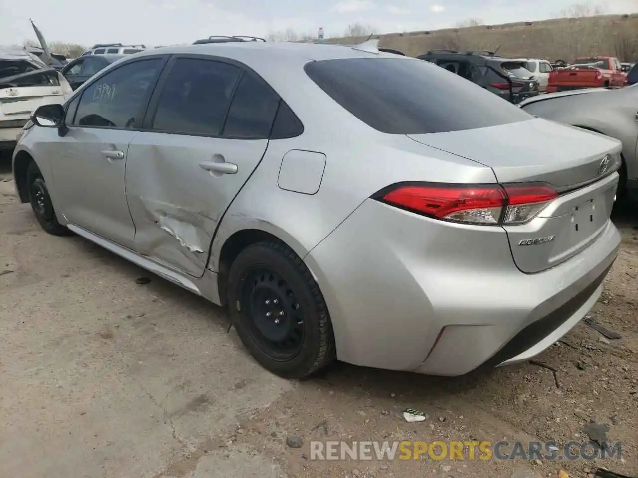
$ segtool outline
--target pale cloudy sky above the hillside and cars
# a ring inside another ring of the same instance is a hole
[[[211,35],[253,35],[292,29],[342,36],[349,24],[374,33],[454,27],[468,18],[501,24],[554,18],[577,0],[0,0],[0,45],[36,40],[91,46],[193,43]],[[597,3],[590,3],[596,6]],[[606,13],[638,13],[638,0],[606,0]],[[31,8],[29,8],[31,6]]]

